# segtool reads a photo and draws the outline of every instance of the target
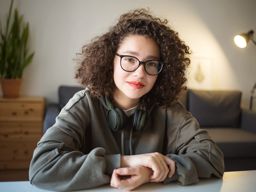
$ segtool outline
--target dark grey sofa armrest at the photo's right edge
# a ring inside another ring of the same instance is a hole
[[[256,112],[242,109],[241,129],[256,133]]]

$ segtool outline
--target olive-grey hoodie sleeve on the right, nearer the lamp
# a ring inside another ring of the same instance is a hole
[[[172,114],[173,115],[173,114]],[[169,123],[176,127],[176,140],[170,142],[174,137],[173,129],[167,130],[167,153],[175,161],[175,174],[166,178],[164,184],[175,181],[180,185],[187,185],[199,181],[199,177],[210,178],[216,176],[221,178],[224,174],[223,153],[212,140],[207,130],[199,129],[199,124],[185,109],[179,113],[179,117]],[[171,153],[168,148],[175,145],[176,152]]]

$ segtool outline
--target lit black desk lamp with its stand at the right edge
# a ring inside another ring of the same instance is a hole
[[[248,31],[247,33],[237,35],[234,38],[236,45],[241,48],[246,47],[249,40],[252,40],[252,42],[256,45],[256,42],[253,40],[253,30]],[[256,89],[256,83],[251,90],[250,110],[252,110],[252,100],[256,99],[256,96],[253,96],[255,89]]]

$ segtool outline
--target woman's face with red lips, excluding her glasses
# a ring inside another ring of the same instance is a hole
[[[151,59],[160,60],[160,50],[158,44],[147,37],[134,35],[128,36],[116,51],[119,55],[129,55],[145,62]],[[116,91],[114,99],[122,98],[126,100],[136,100],[148,93],[156,82],[157,75],[149,75],[140,66],[133,72],[124,71],[120,65],[121,58],[114,58],[114,82]]]

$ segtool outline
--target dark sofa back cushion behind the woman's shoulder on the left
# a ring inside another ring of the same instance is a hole
[[[69,86],[60,86],[59,87],[59,103],[60,109],[65,107],[68,101],[77,93],[78,91],[83,90],[82,87],[69,87]]]

